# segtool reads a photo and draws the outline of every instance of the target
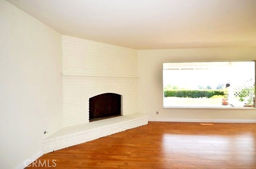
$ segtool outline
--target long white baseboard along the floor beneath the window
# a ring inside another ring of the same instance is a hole
[[[175,118],[148,118],[149,122],[212,122],[212,123],[256,123],[256,119],[175,119]]]

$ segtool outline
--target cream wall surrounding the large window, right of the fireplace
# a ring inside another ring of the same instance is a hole
[[[256,47],[138,50],[138,112],[147,112],[149,120],[256,119],[255,109],[163,108],[163,63],[242,60],[256,60]]]

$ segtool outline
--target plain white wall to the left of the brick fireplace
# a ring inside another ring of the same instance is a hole
[[[0,0],[0,37],[0,168],[11,169],[62,127],[61,35]]]

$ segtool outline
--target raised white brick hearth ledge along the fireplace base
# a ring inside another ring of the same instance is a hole
[[[92,141],[146,124],[148,124],[148,114],[134,113],[96,122],[69,126],[62,128],[42,140],[42,149],[44,154],[50,153],[52,151]]]

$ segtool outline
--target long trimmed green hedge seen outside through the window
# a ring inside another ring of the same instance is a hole
[[[223,90],[164,90],[164,97],[210,98],[214,95],[224,95]]]

